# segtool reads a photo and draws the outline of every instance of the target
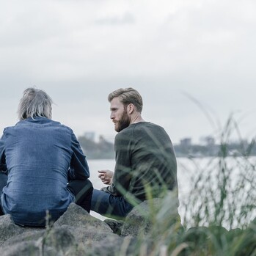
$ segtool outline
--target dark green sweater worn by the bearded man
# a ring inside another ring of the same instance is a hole
[[[145,189],[153,197],[177,185],[177,162],[172,142],[159,125],[138,122],[117,134],[114,186],[120,194],[146,200]]]

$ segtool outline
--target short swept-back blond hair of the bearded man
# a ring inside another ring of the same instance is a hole
[[[109,93],[109,102],[111,102],[111,100],[116,97],[120,98],[120,101],[124,106],[132,103],[136,107],[136,111],[138,111],[139,113],[142,112],[142,96],[139,94],[138,91],[136,91],[136,89],[133,89],[131,87],[116,89],[114,92]]]

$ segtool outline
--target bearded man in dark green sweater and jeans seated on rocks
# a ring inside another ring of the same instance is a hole
[[[177,162],[168,134],[142,119],[142,97],[133,88],[109,94],[110,118],[118,132],[114,141],[115,169],[99,171],[109,186],[92,193],[92,211],[116,219],[149,197],[177,192]],[[177,205],[178,207],[178,205]]]

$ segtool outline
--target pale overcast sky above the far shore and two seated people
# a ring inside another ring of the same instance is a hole
[[[0,0],[0,129],[36,86],[77,136],[114,138],[107,95],[134,87],[142,116],[174,143],[216,136],[231,113],[252,138],[255,10],[254,0]]]

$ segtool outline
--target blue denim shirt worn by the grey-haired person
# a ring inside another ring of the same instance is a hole
[[[1,194],[4,213],[15,223],[42,225],[45,211],[58,219],[75,197],[68,180],[89,178],[89,167],[73,131],[44,117],[28,118],[4,129],[0,171],[7,172]]]

